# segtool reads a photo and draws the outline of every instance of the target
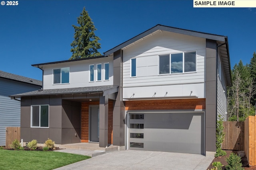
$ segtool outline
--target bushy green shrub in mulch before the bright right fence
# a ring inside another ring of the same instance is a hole
[[[227,162],[226,170],[244,170],[244,168],[242,168],[241,157],[237,154],[231,153],[227,158]]]

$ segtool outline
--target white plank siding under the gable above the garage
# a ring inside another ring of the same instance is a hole
[[[159,55],[191,51],[196,51],[196,72],[158,75]],[[124,49],[123,97],[191,95],[205,98],[205,55],[206,39],[166,31]],[[131,58],[136,58],[136,77],[130,77]]]

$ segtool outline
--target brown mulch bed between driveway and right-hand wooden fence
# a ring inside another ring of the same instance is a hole
[[[222,170],[226,170],[225,166],[228,165],[226,159],[229,157],[229,155],[233,152],[237,155],[241,156],[241,162],[242,162],[242,167],[244,167],[245,170],[256,170],[256,166],[249,166],[246,155],[244,154],[243,151],[238,151],[238,150],[225,150],[227,152],[227,154],[225,156],[219,156],[217,158],[214,158],[214,160],[212,160],[212,162],[220,162],[222,163],[222,165],[224,165],[222,167]],[[212,163],[210,164],[210,166],[207,168],[207,170],[214,168],[212,166]]]

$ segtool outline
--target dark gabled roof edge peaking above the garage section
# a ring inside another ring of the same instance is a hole
[[[139,35],[129,39],[128,41],[125,41],[124,43],[106,51],[104,53],[105,56],[110,55],[116,51],[118,51],[119,49],[122,49],[124,47],[126,47],[127,45],[130,45],[140,39],[144,39],[145,37],[148,37],[148,35],[153,35],[156,31],[168,31],[168,32],[173,32],[173,33],[180,33],[180,34],[184,34],[184,35],[191,35],[194,37],[201,37],[201,38],[206,38],[206,39],[212,39],[212,40],[216,40],[216,41],[222,41],[225,42],[225,36],[222,35],[216,35],[216,34],[210,34],[210,33],[203,33],[203,32],[198,32],[198,31],[191,31],[188,29],[181,29],[181,28],[176,28],[176,27],[169,27],[169,26],[165,26],[165,25],[156,25],[146,31],[144,31],[143,33],[140,33]]]

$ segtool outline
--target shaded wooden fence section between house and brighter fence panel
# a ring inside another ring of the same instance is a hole
[[[244,150],[244,122],[243,121],[224,121],[225,139],[222,149]]]

